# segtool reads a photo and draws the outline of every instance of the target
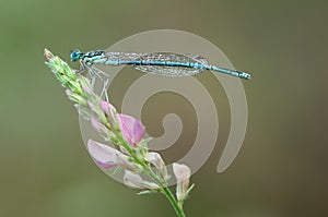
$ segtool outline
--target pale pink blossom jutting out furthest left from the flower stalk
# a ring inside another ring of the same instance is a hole
[[[129,160],[128,156],[108,145],[89,140],[87,150],[102,168],[106,169],[115,166],[122,166],[132,171],[137,169],[137,166]]]

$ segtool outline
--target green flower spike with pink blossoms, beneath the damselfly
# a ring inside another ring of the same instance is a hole
[[[79,76],[59,57],[45,49],[46,64],[52,71],[66,93],[78,108],[81,118],[89,120],[93,129],[110,144],[89,140],[87,152],[102,169],[124,170],[122,183],[139,189],[142,194],[161,193],[166,196],[178,217],[186,217],[183,205],[190,194],[191,169],[187,165],[173,162],[169,176],[161,155],[150,152],[145,126],[131,116],[119,113],[107,100],[92,91],[92,81]],[[94,77],[91,77],[92,80]],[[168,180],[176,179],[175,194],[168,188]],[[112,195],[113,196],[113,195]]]

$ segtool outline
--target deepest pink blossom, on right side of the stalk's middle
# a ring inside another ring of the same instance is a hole
[[[136,147],[141,138],[144,136],[144,126],[140,120],[133,117],[118,113],[118,124],[121,130],[124,138],[132,146]]]

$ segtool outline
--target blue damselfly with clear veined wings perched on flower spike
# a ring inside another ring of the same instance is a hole
[[[171,52],[154,53],[126,53],[126,52],[106,52],[105,50],[95,50],[81,52],[74,50],[71,52],[71,60],[80,60],[82,71],[87,69],[93,75],[97,75],[93,64],[106,65],[133,65],[134,69],[162,76],[191,76],[210,70],[239,79],[249,80],[250,74],[237,70],[224,69],[209,64],[206,58],[198,55],[177,55]]]

